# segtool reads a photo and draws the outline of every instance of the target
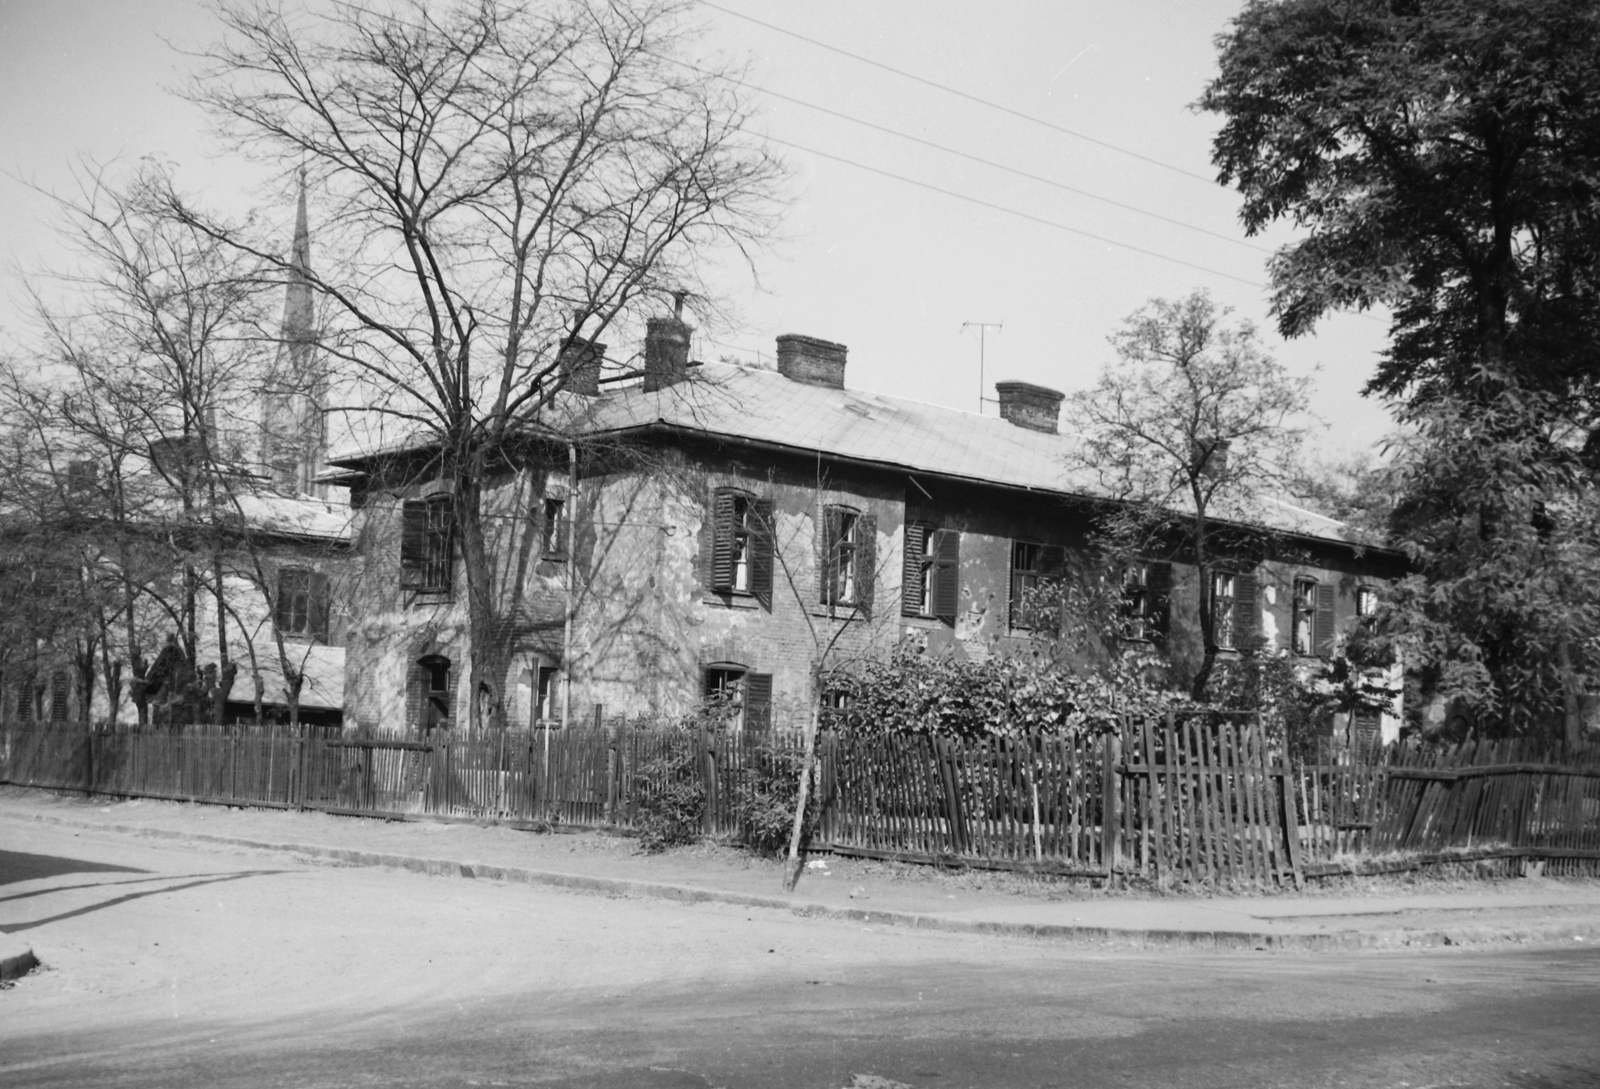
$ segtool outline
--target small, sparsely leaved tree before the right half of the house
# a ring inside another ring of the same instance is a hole
[[[1067,403],[1082,435],[1072,467],[1118,501],[1102,520],[1106,553],[1125,563],[1182,556],[1197,568],[1197,702],[1218,652],[1211,577],[1259,556],[1262,496],[1293,480],[1304,435],[1307,381],[1227,313],[1205,291],[1152,301],[1110,337],[1117,361]]]

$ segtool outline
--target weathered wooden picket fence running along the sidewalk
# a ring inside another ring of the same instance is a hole
[[[792,808],[798,732],[626,724],[358,737],[285,726],[0,724],[0,782],[374,817],[640,828],[683,784],[701,832]],[[1104,736],[824,734],[811,848],[1170,883],[1286,884],[1430,860],[1600,870],[1600,753],[1530,742],[1320,745],[1250,716]]]

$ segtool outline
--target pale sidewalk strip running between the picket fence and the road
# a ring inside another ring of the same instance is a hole
[[[1581,948],[1600,942],[1600,881],[1434,883],[1418,894],[1386,886],[1382,894],[1312,888],[1270,897],[1150,897],[1014,873],[819,856],[795,892],[784,894],[778,862],[715,846],[646,856],[634,840],[602,833],[109,801],[0,787],[0,844],[26,849],[27,828],[38,822],[450,878],[1115,945],[1368,950],[1510,943]],[[0,958],[6,955],[14,950],[0,947]]]

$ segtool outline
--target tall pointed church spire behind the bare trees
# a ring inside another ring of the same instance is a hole
[[[310,225],[301,171],[278,352],[261,398],[261,472],[283,496],[323,496],[315,483],[326,454],[328,377],[317,350],[317,294],[310,286]]]

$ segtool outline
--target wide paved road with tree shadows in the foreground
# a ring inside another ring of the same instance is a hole
[[[1600,1086],[1600,951],[1104,951],[0,822],[22,1086]]]

